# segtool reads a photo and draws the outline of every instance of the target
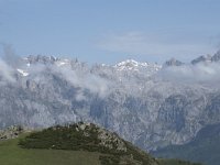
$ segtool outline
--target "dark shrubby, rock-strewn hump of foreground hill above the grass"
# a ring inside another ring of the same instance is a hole
[[[48,128],[31,133],[19,144],[24,148],[98,152],[102,154],[101,164],[158,165],[155,158],[131,143],[91,123]]]

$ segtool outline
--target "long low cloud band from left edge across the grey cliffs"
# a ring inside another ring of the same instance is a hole
[[[110,88],[110,82],[105,80],[98,75],[94,75],[89,72],[89,68],[72,69],[70,66],[58,67],[52,64],[32,64],[28,67],[21,57],[16,56],[13,48],[9,44],[1,44],[3,54],[0,58],[0,84],[15,82],[16,69],[24,69],[29,73],[28,79],[33,79],[37,84],[48,82],[48,77],[46,74],[56,74],[64,80],[72,84],[74,87],[78,88],[78,94],[76,99],[86,99],[84,96],[85,90],[89,90],[92,94],[97,94],[99,97],[103,98],[108,94]],[[87,66],[86,66],[87,67]]]

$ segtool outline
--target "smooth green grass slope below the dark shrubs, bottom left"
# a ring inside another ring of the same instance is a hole
[[[99,153],[21,148],[19,139],[0,142],[1,165],[98,165]]]

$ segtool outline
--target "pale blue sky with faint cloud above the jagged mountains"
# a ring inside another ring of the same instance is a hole
[[[220,50],[219,0],[0,0],[0,53],[189,62]]]

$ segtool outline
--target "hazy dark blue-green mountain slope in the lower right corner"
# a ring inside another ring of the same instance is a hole
[[[184,158],[202,162],[206,165],[219,165],[220,162],[220,124],[207,125],[197,136],[184,145],[170,145],[153,152],[167,158]]]

